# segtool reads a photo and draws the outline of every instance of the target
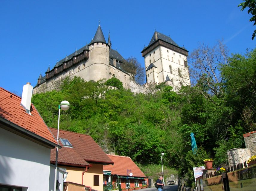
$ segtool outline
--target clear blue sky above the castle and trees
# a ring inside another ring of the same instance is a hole
[[[181,3],[182,2],[182,3]],[[0,86],[22,94],[23,85],[37,79],[57,60],[90,42],[99,20],[112,49],[136,57],[156,31],[170,36],[189,53],[199,43],[222,40],[230,53],[255,48],[255,30],[242,0],[216,1],[11,1],[0,7]]]

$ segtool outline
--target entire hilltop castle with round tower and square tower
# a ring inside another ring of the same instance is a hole
[[[188,75],[188,51],[179,47],[170,37],[155,32],[149,45],[142,50],[145,60],[146,84],[130,79],[124,69],[125,59],[111,48],[110,34],[106,42],[100,25],[89,44],[58,61],[53,69],[48,67],[45,76],[40,74],[33,93],[51,91],[66,76],[79,76],[85,81],[98,81],[115,76],[125,89],[145,93],[148,87],[160,83],[173,86],[178,91],[182,85],[190,85]]]

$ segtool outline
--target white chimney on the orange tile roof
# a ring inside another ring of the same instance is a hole
[[[23,86],[22,97],[21,97],[21,106],[25,108],[26,112],[30,113],[30,106],[31,106],[31,98],[33,93],[33,86],[30,85],[28,82],[26,85]]]

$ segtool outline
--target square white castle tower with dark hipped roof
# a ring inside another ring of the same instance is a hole
[[[170,37],[155,32],[141,53],[145,61],[147,84],[164,82],[176,91],[183,85],[190,85],[188,50],[179,47]]]

